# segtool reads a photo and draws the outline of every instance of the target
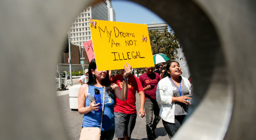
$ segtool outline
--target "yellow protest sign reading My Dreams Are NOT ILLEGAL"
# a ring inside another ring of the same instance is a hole
[[[98,70],[154,67],[147,25],[90,20]]]

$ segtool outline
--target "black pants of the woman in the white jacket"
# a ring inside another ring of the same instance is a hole
[[[181,127],[181,124],[184,120],[184,117],[186,115],[179,115],[179,116],[175,116],[174,118],[174,123],[169,123],[167,121],[163,121],[163,125],[164,125],[164,129],[166,130],[169,138],[171,139],[172,136],[178,131],[178,129]]]

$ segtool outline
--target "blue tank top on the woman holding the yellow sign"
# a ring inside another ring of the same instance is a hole
[[[94,89],[99,89],[101,94],[101,106],[103,103],[103,92],[104,87],[96,87],[96,86],[89,86],[89,91],[91,95],[94,95]],[[90,105],[90,101],[88,96],[85,100],[85,107]],[[115,128],[115,118],[114,118],[114,100],[108,95],[105,89],[105,103],[104,103],[104,115],[102,121],[102,129],[101,131],[108,131]],[[101,112],[91,111],[87,114],[84,114],[83,117],[83,127],[98,127],[100,128],[101,123]]]

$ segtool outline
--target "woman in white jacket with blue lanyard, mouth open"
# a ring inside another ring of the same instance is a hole
[[[169,138],[176,133],[187,115],[189,101],[186,94],[191,94],[191,83],[181,77],[181,68],[176,61],[170,61],[166,67],[167,77],[157,84],[157,102],[161,103],[159,116]]]

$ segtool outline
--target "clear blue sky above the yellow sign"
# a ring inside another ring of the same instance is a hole
[[[112,0],[116,12],[116,21],[138,24],[166,23],[161,17],[146,7],[126,0]],[[170,30],[168,25],[168,30]]]

